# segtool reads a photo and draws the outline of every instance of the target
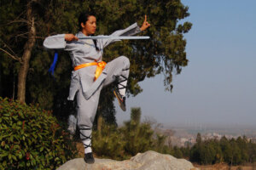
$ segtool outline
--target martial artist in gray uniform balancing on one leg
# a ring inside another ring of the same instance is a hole
[[[114,31],[110,36],[132,36],[144,31],[150,26],[147,15],[143,26],[137,23],[124,30]],[[91,128],[96,116],[97,105],[103,87],[111,82],[117,82],[113,94],[119,105],[125,111],[125,90],[129,76],[130,61],[125,56],[119,56],[112,61],[102,61],[103,48],[116,42],[116,39],[79,39],[79,37],[93,36],[96,32],[96,17],[94,14],[81,13],[79,15],[79,32],[73,34],[58,34],[46,37],[44,48],[62,49],[69,53],[73,62],[71,84],[68,100],[77,98],[78,127],[80,139],[84,144],[84,161],[94,163],[91,150]]]

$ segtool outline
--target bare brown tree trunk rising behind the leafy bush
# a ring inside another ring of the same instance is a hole
[[[26,99],[26,76],[29,68],[29,60],[32,54],[32,48],[36,41],[36,28],[34,25],[34,17],[32,16],[32,4],[28,3],[26,7],[26,19],[28,28],[28,40],[24,46],[24,52],[21,58],[21,65],[18,77],[18,93],[17,99],[25,103]]]

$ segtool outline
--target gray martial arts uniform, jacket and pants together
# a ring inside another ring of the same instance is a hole
[[[110,36],[132,36],[139,32],[140,28],[135,23],[124,30],[114,31]],[[84,37],[84,34],[79,32],[76,36]],[[109,43],[116,41],[119,40],[98,39],[96,45],[100,50],[96,51],[96,47],[91,39],[66,42],[65,34],[59,34],[45,38],[44,48],[68,51],[74,67],[84,63],[102,61],[103,48],[107,47]],[[125,56],[113,59],[111,62],[108,62],[101,76],[95,82],[96,65],[72,71],[69,96],[67,99],[73,100],[75,94],[77,94],[78,125],[81,139],[87,140],[87,143],[84,145],[85,147],[90,145],[88,141],[90,141],[91,127],[96,116],[102,87],[115,81],[116,78],[122,81],[123,78],[121,76],[128,77],[129,67],[129,59]]]

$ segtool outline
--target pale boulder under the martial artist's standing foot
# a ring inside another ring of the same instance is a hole
[[[110,159],[95,159],[94,164],[87,164],[83,158],[67,161],[57,170],[196,170],[192,163],[185,159],[177,159],[171,155],[164,155],[148,150],[138,153],[130,160],[113,161]]]

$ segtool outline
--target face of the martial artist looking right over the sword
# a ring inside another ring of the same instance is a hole
[[[96,17],[95,16],[89,16],[88,20],[86,21],[85,25],[84,23],[81,23],[82,26],[82,32],[86,36],[90,36],[91,34],[94,34],[96,31]]]

